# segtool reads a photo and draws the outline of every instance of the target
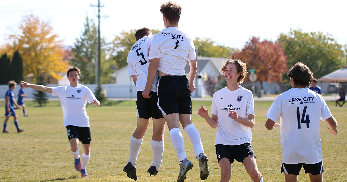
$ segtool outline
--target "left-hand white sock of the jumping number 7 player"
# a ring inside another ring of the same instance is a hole
[[[184,139],[181,130],[179,128],[172,128],[169,131],[169,133],[172,146],[174,146],[179,162],[181,163],[184,159],[187,158],[187,154],[184,149]]]

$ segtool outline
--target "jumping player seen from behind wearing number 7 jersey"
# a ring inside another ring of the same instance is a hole
[[[180,162],[178,182],[184,181],[188,170],[193,164],[188,161],[184,149],[184,140],[179,129],[179,122],[193,144],[194,154],[200,166],[201,180],[209,175],[208,158],[202,146],[201,137],[192,122],[192,92],[196,75],[196,54],[192,39],[178,28],[181,6],[176,2],[166,2],[160,6],[163,14],[164,27],[153,36],[149,59],[146,87],[143,97],[150,98],[150,89],[159,71],[158,106],[167,121],[170,139]],[[185,76],[184,67],[189,62],[189,81]],[[153,96],[153,95],[152,95]]]

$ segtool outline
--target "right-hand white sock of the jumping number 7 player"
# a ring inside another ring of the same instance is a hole
[[[202,146],[200,133],[197,131],[193,123],[188,124],[186,127],[184,127],[184,131],[187,133],[188,137],[191,139],[195,157],[197,157],[197,160],[199,160],[198,159],[199,154],[205,153],[204,147]]]

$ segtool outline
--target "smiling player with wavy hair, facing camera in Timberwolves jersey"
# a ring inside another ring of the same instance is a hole
[[[252,181],[263,181],[252,142],[254,127],[254,101],[250,90],[242,84],[247,75],[246,63],[238,59],[229,59],[220,69],[227,81],[227,87],[215,92],[212,97],[211,113],[204,106],[198,109],[198,114],[212,127],[217,128],[215,148],[221,169],[221,182],[229,181],[231,163],[234,159],[242,162]]]

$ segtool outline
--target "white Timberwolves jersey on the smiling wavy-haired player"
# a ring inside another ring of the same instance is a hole
[[[252,92],[240,86],[234,91],[225,87],[213,94],[211,113],[218,116],[215,145],[240,145],[247,142],[251,144],[251,128],[231,119],[228,116],[230,110],[236,111],[242,118],[247,118],[248,114],[254,115]]]

